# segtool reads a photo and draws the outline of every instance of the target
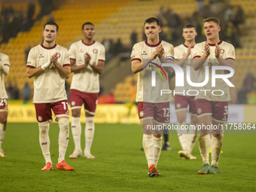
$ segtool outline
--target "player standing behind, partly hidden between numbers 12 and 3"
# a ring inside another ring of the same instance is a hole
[[[196,78],[197,72],[192,67],[192,54],[194,45],[196,44],[195,38],[197,36],[196,28],[192,24],[187,24],[183,27],[182,36],[184,38],[184,44],[180,44],[174,48],[175,64],[181,66],[184,72],[184,87],[175,87],[175,112],[177,115],[178,125],[178,140],[181,143],[181,151],[178,151],[180,157],[184,157],[187,160],[194,160],[197,157],[191,155],[191,151],[194,148],[197,139],[197,130],[195,125],[197,124],[197,107],[195,96],[187,95],[187,90],[194,90],[189,84],[187,84],[187,66],[190,67],[190,78]],[[178,79],[176,79],[178,81]],[[192,80],[194,82],[194,80]],[[182,129],[182,126],[186,125],[187,106],[189,106],[190,123],[194,125],[195,129],[187,130]]]

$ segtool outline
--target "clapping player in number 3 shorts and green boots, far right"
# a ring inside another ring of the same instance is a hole
[[[193,66],[198,71],[197,82],[203,82],[206,77],[206,66],[209,66],[209,74],[212,74],[212,66],[227,66],[234,69],[235,49],[232,44],[220,41],[219,32],[221,31],[220,21],[215,17],[209,17],[203,20],[204,31],[207,41],[196,44],[194,47]],[[218,75],[225,75],[225,70],[218,70]],[[231,77],[230,81],[233,81]],[[210,130],[200,130],[200,154],[203,159],[203,166],[198,171],[199,174],[222,173],[218,168],[218,161],[222,147],[223,123],[227,122],[228,102],[235,96],[235,87],[229,87],[223,79],[216,79],[216,87],[212,86],[209,79],[208,84],[200,87],[201,90],[209,90],[206,94],[199,92],[197,100],[198,125],[219,127],[212,129],[212,139]],[[215,90],[215,95],[211,91]],[[223,93],[223,94],[221,94]],[[231,94],[230,94],[231,93]],[[209,166],[209,149],[212,149],[212,166]]]

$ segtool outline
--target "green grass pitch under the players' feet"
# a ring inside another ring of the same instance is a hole
[[[82,124],[84,127],[84,124]],[[53,171],[42,172],[44,157],[38,142],[38,123],[8,123],[2,144],[7,158],[0,158],[0,191],[255,191],[256,135],[225,135],[219,167],[221,175],[198,175],[202,166],[198,142],[197,160],[178,157],[176,135],[169,136],[172,151],[162,151],[159,178],[149,178],[142,148],[142,127],[96,124],[92,154],[70,160],[74,142],[70,133],[66,162],[73,172],[56,169],[57,123],[50,123]],[[82,133],[84,149],[84,131]]]

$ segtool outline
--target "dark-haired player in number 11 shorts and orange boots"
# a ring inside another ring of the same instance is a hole
[[[46,165],[43,171],[53,169],[50,159],[49,126],[55,120],[59,123],[59,158],[57,169],[74,170],[65,161],[69,144],[69,103],[65,90],[65,79],[70,75],[69,53],[65,47],[55,44],[58,25],[54,22],[44,24],[44,42],[32,47],[26,64],[26,74],[34,77],[35,112],[39,126],[39,142]]]

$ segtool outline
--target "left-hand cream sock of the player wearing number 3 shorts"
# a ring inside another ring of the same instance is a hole
[[[199,138],[199,149],[200,154],[203,159],[203,164],[209,164],[209,150],[211,147],[211,138],[210,135],[200,136]]]

